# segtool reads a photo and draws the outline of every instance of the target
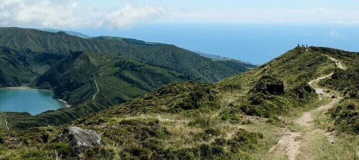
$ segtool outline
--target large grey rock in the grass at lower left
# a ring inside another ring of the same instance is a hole
[[[81,153],[100,145],[101,137],[94,130],[69,127],[64,129],[53,142],[65,142],[73,148],[74,153]]]

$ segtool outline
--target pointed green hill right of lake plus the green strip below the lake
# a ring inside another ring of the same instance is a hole
[[[165,84],[183,81],[183,74],[145,63],[91,52],[74,52],[38,77],[32,87],[54,90],[54,97],[72,105],[37,116],[2,113],[11,128],[61,125],[81,116],[124,103]],[[99,92],[97,92],[95,81]]]

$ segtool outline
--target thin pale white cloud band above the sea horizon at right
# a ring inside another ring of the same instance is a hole
[[[164,16],[162,21],[224,21],[224,22],[325,22],[355,23],[359,11],[334,10],[323,7],[305,9],[247,9],[177,11]]]

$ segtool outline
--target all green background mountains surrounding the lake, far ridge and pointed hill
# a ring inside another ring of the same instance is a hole
[[[129,38],[86,39],[16,27],[0,28],[0,36],[0,87],[50,89],[54,98],[72,106],[37,116],[0,113],[17,129],[61,125],[165,84],[215,82],[249,68],[242,62],[212,61],[174,45]]]

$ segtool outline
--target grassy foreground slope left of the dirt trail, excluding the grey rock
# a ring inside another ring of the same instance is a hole
[[[70,159],[74,155],[64,152],[68,150],[61,144],[39,142],[43,135],[53,139],[66,126],[80,126],[96,130],[103,138],[103,144],[95,152],[80,155],[82,159],[268,159],[267,151],[283,132],[277,126],[288,125],[278,117],[317,107],[317,97],[304,83],[335,67],[317,51],[320,48],[310,49],[309,53],[295,48],[217,84],[173,83],[65,126],[7,133],[5,139],[21,138],[23,143],[15,143],[11,149],[2,147],[0,153],[12,159],[30,159],[28,155],[51,159],[54,149],[61,149],[62,158]],[[271,79],[263,79],[263,75]],[[281,82],[284,93],[260,90],[260,84]],[[304,87],[302,92],[298,87]],[[250,98],[257,94],[266,98],[253,104]],[[248,105],[258,113],[269,111],[269,119],[246,116],[242,106]]]

